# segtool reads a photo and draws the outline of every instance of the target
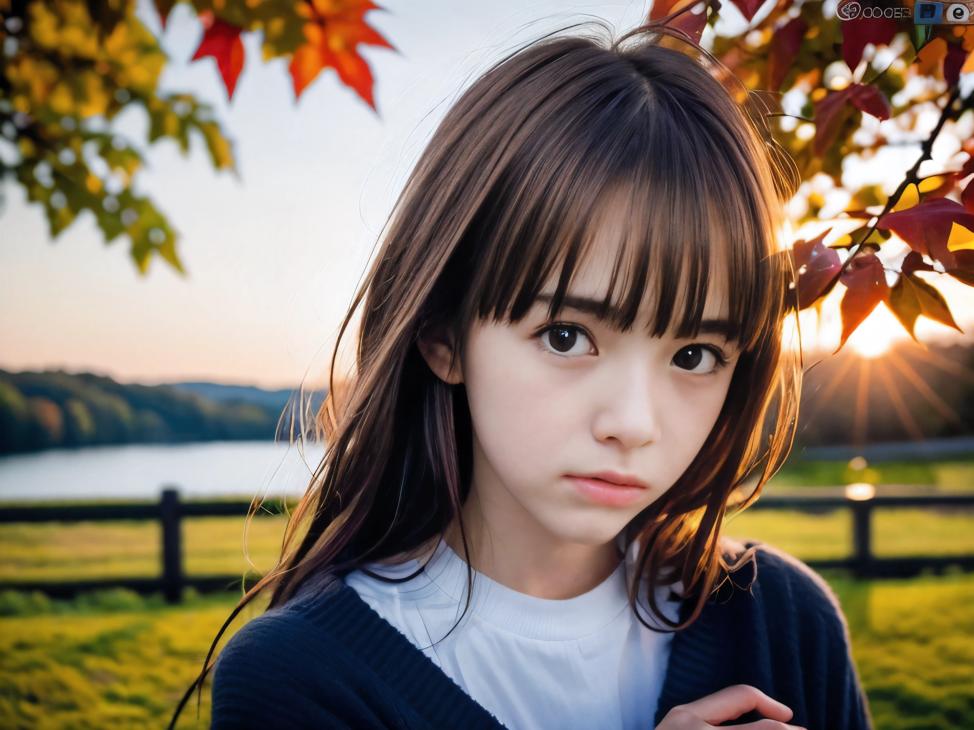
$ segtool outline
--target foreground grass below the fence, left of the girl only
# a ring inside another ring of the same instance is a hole
[[[0,726],[165,728],[236,602],[224,594],[163,607],[125,591],[106,595],[109,607],[89,599],[88,605],[49,605],[48,615],[0,619]],[[120,602],[129,607],[111,610]],[[178,727],[208,724],[204,693],[199,720],[194,705]]]

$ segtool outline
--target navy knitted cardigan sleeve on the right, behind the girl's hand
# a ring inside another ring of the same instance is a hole
[[[690,627],[673,639],[656,722],[677,705],[750,684],[807,730],[869,730],[865,697],[831,589],[799,561],[764,545]],[[753,721],[749,713],[738,721]]]

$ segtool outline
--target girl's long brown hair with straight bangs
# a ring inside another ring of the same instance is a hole
[[[352,374],[318,413],[325,456],[280,563],[241,606],[264,590],[279,605],[312,576],[408,553],[451,524],[463,536],[467,396],[432,374],[417,340],[445,328],[460,351],[471,323],[518,320],[549,282],[554,315],[591,222],[621,191],[632,215],[604,316],[632,328],[650,298],[650,335],[690,336],[720,266],[741,347],[703,448],[627,530],[656,614],[656,583],[682,580],[690,597],[682,623],[659,620],[693,621],[729,568],[718,537],[731,493],[753,474],[759,493],[790,446],[800,369],[781,342],[792,272],[777,230],[790,181],[766,130],[679,46],[654,28],[615,42],[547,38],[445,115],[342,325],[339,342],[360,317]]]

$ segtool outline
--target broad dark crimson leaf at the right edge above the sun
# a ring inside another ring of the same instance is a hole
[[[951,251],[948,247],[955,223],[974,231],[974,214],[968,213],[959,202],[936,198],[922,201],[906,210],[886,213],[877,227],[892,231],[915,251],[941,262],[950,272],[952,269],[968,269],[956,259],[962,252]]]

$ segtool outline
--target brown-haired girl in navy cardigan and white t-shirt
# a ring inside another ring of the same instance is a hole
[[[720,538],[799,380],[791,181],[731,81],[648,26],[460,97],[345,320],[356,369],[213,728],[869,726],[825,584]]]

